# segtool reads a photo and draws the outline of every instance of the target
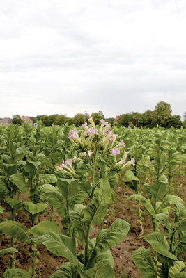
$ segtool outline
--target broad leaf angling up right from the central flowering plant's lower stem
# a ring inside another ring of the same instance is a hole
[[[98,232],[95,248],[101,252],[109,250],[125,238],[129,229],[129,223],[123,219],[117,218],[109,229],[102,229]]]

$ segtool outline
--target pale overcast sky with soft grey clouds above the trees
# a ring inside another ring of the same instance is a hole
[[[0,117],[186,111],[185,0],[1,0]]]

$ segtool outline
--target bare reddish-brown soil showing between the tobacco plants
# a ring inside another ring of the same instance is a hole
[[[178,180],[178,184],[180,184],[181,178],[178,178]],[[185,186],[186,178],[184,182],[182,179],[182,186],[180,187],[178,192],[178,195],[182,196],[183,199],[185,199],[186,201]],[[104,219],[104,228],[108,228],[111,223],[116,220],[116,218],[121,218],[129,222],[131,225],[129,233],[127,234],[127,236],[125,236],[125,238],[123,238],[122,242],[111,248],[111,254],[114,257],[114,272],[116,278],[140,278],[141,275],[132,261],[132,252],[134,250],[137,250],[137,248],[141,246],[144,246],[146,248],[149,247],[148,243],[146,243],[141,237],[139,237],[139,235],[141,234],[141,226],[138,222],[137,206],[134,201],[127,200],[127,197],[132,194],[134,194],[134,191],[130,188],[127,188],[126,186],[123,187],[122,185],[117,186],[115,188],[115,193],[113,196],[114,203],[109,205],[109,212]],[[3,213],[0,215],[0,220],[8,219],[10,217],[10,212],[8,211],[6,206],[4,206],[4,204],[1,204],[1,206],[5,208],[5,211],[3,211]],[[145,219],[143,221],[144,234],[148,234],[152,231],[150,218],[148,217],[146,211],[144,211],[144,208],[142,206],[141,210]],[[49,218],[50,209],[47,208],[45,214],[40,215],[40,217],[38,217],[38,220],[49,220]],[[55,212],[54,220],[56,224],[59,224],[59,227],[61,227],[62,218],[60,218]],[[22,211],[21,208],[15,216],[15,221],[24,223],[26,227],[31,227],[28,215],[24,211]],[[98,234],[98,229],[99,227],[94,227],[92,229],[91,238],[95,237]],[[7,247],[10,247],[9,237],[1,234],[0,250]],[[31,246],[17,242],[17,250],[20,251],[20,254],[15,254],[15,267],[29,271],[29,267],[31,266],[31,261],[29,259],[29,256],[31,254]],[[55,256],[51,252],[47,251],[47,248],[44,245],[38,245],[38,250],[40,252],[38,256],[39,260],[36,265],[36,277],[38,278],[49,278],[49,276],[59,268],[61,263],[68,261],[65,258]],[[1,257],[0,276],[2,276],[3,272],[5,272],[5,270],[8,268],[8,263],[10,263],[10,254],[6,254]]]

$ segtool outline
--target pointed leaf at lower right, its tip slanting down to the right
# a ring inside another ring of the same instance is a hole
[[[143,236],[142,238],[147,240],[148,243],[152,246],[153,250],[155,250],[159,254],[165,256],[166,258],[177,261],[176,256],[169,252],[169,245],[162,232],[155,231],[154,233]]]

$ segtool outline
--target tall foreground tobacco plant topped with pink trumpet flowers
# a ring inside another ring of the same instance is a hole
[[[44,244],[56,255],[65,256],[70,263],[63,263],[51,278],[69,277],[114,277],[113,259],[109,249],[119,243],[130,229],[130,224],[117,219],[109,229],[101,229],[97,238],[90,240],[93,224],[103,222],[107,215],[107,205],[111,203],[111,187],[116,185],[118,173],[130,164],[127,163],[127,152],[124,152],[123,140],[116,144],[116,135],[109,130],[109,124],[101,120],[98,131],[93,120],[91,126],[82,125],[80,136],[78,131],[71,130],[69,139],[77,148],[74,163],[89,165],[90,172],[87,181],[79,180],[72,159],[63,161],[56,169],[64,174],[57,182],[58,190],[48,190],[42,197],[56,207],[59,215],[63,215],[63,227],[67,235],[57,235],[54,232],[34,238],[36,243]],[[117,156],[122,152],[123,158]],[[65,177],[68,177],[66,179]],[[71,178],[71,179],[69,179]],[[79,204],[83,202],[84,204]],[[76,254],[76,236],[84,250]]]

